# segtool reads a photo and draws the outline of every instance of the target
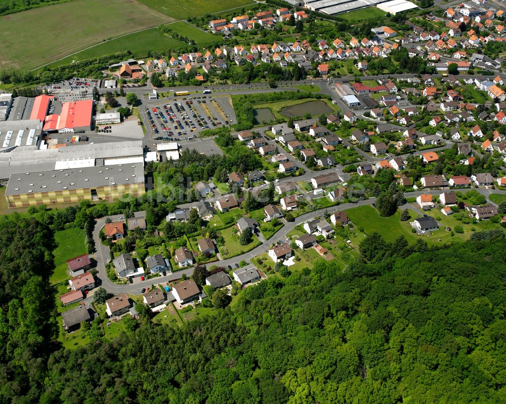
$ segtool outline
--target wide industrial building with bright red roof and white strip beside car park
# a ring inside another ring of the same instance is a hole
[[[91,130],[93,100],[67,102],[62,105],[60,115],[46,117],[43,130],[60,133],[74,133]]]

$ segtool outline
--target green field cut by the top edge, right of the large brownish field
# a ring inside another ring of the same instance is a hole
[[[185,2],[167,2],[166,0],[139,0],[149,8],[171,16],[177,20],[199,17],[205,14],[243,7],[254,2],[250,0],[186,0]]]

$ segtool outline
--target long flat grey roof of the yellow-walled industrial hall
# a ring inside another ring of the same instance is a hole
[[[21,167],[20,167],[21,168]],[[6,195],[144,183],[142,163],[13,173]]]

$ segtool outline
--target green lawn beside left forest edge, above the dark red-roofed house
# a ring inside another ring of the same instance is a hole
[[[85,235],[82,229],[70,228],[55,233],[58,247],[53,250],[55,270],[50,277],[52,285],[69,278],[67,273],[67,259],[86,254]]]

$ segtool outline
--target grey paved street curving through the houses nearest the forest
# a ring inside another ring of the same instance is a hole
[[[485,195],[487,197],[487,200],[489,200],[489,196],[492,193],[506,195],[506,191],[499,191],[499,190],[479,188],[479,189],[477,189],[477,191],[480,192],[481,194]],[[420,194],[424,194],[427,192],[431,192],[431,191],[420,190],[420,191],[406,193],[405,196],[406,196],[406,198],[416,197]],[[439,191],[436,191],[436,192],[439,192]],[[441,191],[441,192],[443,192],[443,191]],[[434,193],[434,191],[432,191],[432,193]],[[292,231],[296,226],[306,222],[307,220],[313,219],[313,218],[323,214],[323,212],[325,210],[328,213],[333,213],[336,211],[351,209],[351,208],[355,208],[358,206],[372,205],[375,201],[376,201],[376,198],[364,199],[364,200],[360,200],[356,203],[343,203],[341,205],[331,206],[328,208],[315,210],[313,212],[304,213],[304,214],[298,216],[294,221],[287,222],[280,230],[278,230],[278,232],[276,232],[274,234],[274,236],[272,238],[264,241],[261,245],[252,249],[251,251],[246,252],[241,255],[238,255],[233,258],[223,259],[223,260],[213,262],[213,265],[219,265],[219,266],[230,265],[232,267],[235,267],[235,265],[238,264],[241,260],[250,261],[251,258],[254,258],[254,257],[262,254],[263,252],[266,252],[269,249],[269,247],[273,243],[277,242],[278,240],[285,240],[286,241],[286,235],[290,231]],[[412,207],[410,206],[410,208],[412,208]],[[413,209],[413,210],[415,210],[415,209]],[[143,215],[143,212],[136,212],[136,216],[142,216],[142,215]],[[110,216],[110,217],[112,220],[117,220],[117,219],[119,219],[120,215]],[[100,242],[100,238],[99,238],[100,230],[104,227],[104,225],[105,225],[105,217],[102,217],[102,218],[97,219],[95,221],[93,238],[95,240],[95,245],[97,248],[97,253],[95,255],[96,255],[96,260],[97,260],[98,278],[102,282],[101,286],[104,287],[109,293],[118,294],[118,293],[130,292],[130,293],[134,293],[134,294],[139,294],[139,293],[141,293],[142,288],[147,288],[148,286],[150,286],[153,283],[163,284],[165,282],[170,282],[170,281],[175,281],[177,279],[180,279],[180,278],[182,278],[183,274],[186,276],[191,276],[193,274],[193,268],[188,268],[185,270],[181,270],[181,271],[177,271],[175,273],[169,274],[167,276],[162,276],[162,277],[158,277],[158,278],[154,278],[154,279],[150,279],[150,280],[145,280],[142,282],[137,282],[135,284],[117,285],[117,284],[113,283],[107,277],[107,273],[106,273],[106,269],[105,269],[106,263],[110,261],[109,247],[103,245]]]

